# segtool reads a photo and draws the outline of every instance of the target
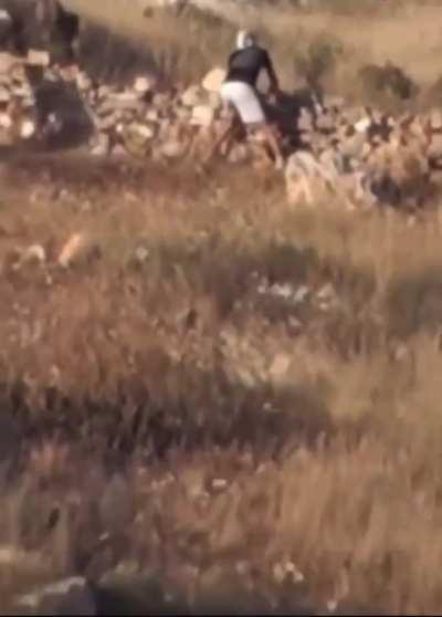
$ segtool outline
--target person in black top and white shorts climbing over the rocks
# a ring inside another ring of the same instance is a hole
[[[256,83],[261,71],[266,71],[270,81],[270,92],[277,96],[278,80],[269,52],[257,44],[256,36],[241,30],[236,38],[236,50],[229,57],[228,74],[221,86],[221,98],[235,111],[235,116],[227,130],[220,137],[212,154],[229,142],[233,142],[241,129],[260,128],[273,154],[275,166],[281,169],[284,164],[275,128],[269,123],[261,101]]]

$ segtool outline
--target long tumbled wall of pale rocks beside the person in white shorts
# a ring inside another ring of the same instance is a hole
[[[223,76],[218,67],[200,84],[166,88],[146,74],[118,87],[94,82],[77,66],[51,66],[44,52],[30,51],[25,61],[0,54],[0,143],[76,130],[72,109],[66,113],[56,103],[39,109],[43,84],[55,82],[80,93],[94,128],[88,139],[93,155],[201,160],[231,114],[219,94]],[[348,106],[336,96],[325,96],[319,103],[294,94],[283,95],[269,112],[280,126],[287,156],[287,196],[293,203],[313,202],[318,190],[337,194],[349,207],[358,201],[415,207],[431,197],[442,168],[438,111],[392,117]],[[270,161],[259,132],[244,132],[228,157],[233,163]]]

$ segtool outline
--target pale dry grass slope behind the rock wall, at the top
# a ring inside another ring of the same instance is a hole
[[[295,87],[304,75],[299,73],[299,56],[305,56],[308,45],[318,43],[328,49],[338,44],[337,62],[325,66],[323,82],[355,100],[365,95],[365,84],[356,79],[367,63],[383,64],[390,61],[406,70],[423,90],[440,77],[438,57],[441,52],[441,7],[423,2],[386,2],[370,11],[370,7],[343,10],[333,3],[333,10],[303,12],[293,8],[277,11],[260,8],[259,11],[225,11],[210,18],[196,10],[180,17],[155,11],[140,18],[139,6],[126,0],[85,2],[72,0],[71,4],[95,22],[105,24],[112,32],[149,51],[151,64],[176,80],[196,80],[214,64],[224,64],[232,49],[239,25],[252,27],[261,32],[275,56],[282,83]],[[359,3],[358,3],[359,6]],[[345,7],[344,7],[345,9]],[[355,18],[362,28],[355,28]],[[107,48],[107,56],[112,49]],[[120,54],[114,54],[118,59]],[[107,60],[108,62],[108,60]]]

